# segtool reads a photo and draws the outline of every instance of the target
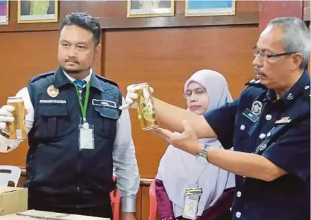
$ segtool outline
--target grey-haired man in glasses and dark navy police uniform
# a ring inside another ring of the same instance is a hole
[[[298,18],[276,18],[253,48],[257,79],[233,103],[197,116],[154,99],[155,131],[173,146],[236,174],[233,219],[310,219],[310,32]],[[135,85],[127,105],[135,108]],[[173,112],[173,113],[170,113]],[[217,137],[225,149],[201,146]]]

